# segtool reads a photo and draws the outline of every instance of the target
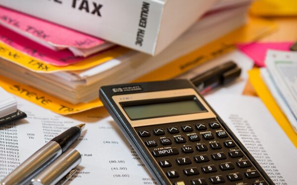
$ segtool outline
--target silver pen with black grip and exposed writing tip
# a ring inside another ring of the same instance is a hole
[[[0,185],[22,185],[31,180],[34,175],[44,169],[50,162],[60,156],[81,135],[85,124],[69,128],[50,140],[45,146],[36,151],[8,176]]]

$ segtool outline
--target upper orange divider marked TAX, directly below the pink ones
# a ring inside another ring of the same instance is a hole
[[[120,55],[123,55],[130,51],[125,47],[116,46],[112,49],[102,52],[99,55],[86,58],[85,60],[73,65],[59,67],[53,66],[46,62],[43,62],[37,58],[24,54],[11,46],[0,41],[0,57],[7,61],[13,62],[19,66],[22,66],[30,71],[36,73],[52,73],[58,71],[78,71],[98,66],[104,62],[112,60]]]

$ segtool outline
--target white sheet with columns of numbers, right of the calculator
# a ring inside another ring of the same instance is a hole
[[[276,185],[297,185],[297,149],[259,98],[209,95],[206,100]]]

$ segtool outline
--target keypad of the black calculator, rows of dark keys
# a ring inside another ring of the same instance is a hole
[[[172,184],[266,182],[216,119],[136,127]]]

